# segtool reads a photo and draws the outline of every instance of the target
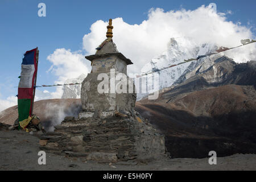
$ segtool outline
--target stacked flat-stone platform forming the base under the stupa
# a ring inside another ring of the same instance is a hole
[[[146,120],[133,117],[66,117],[55,131],[40,135],[41,150],[98,162],[151,160],[166,156],[164,135]]]

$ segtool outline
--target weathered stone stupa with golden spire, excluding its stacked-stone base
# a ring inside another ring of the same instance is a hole
[[[82,82],[80,118],[108,118],[117,112],[133,115],[135,86],[127,76],[127,65],[133,63],[118,52],[113,42],[112,19],[107,28],[107,39],[96,48],[94,55],[85,56],[92,62],[92,72]]]

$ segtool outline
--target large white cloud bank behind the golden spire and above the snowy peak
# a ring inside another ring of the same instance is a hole
[[[122,18],[113,19],[113,40],[118,51],[133,61],[129,71],[139,72],[144,64],[167,49],[171,37],[187,37],[199,46],[215,43],[224,47],[238,46],[241,39],[253,38],[249,28],[239,22],[228,22],[225,15],[208,6],[167,12],[151,9],[148,19],[141,24],[128,24]],[[108,22],[98,20],[90,27],[91,32],[84,36],[83,46],[89,54],[94,54],[95,48],[105,39],[107,25]],[[255,44],[250,44],[233,49],[227,55],[237,62],[245,62],[255,59],[255,49]]]

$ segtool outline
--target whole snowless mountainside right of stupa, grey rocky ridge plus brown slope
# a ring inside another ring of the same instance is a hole
[[[175,86],[144,98],[136,109],[166,135],[174,157],[203,158],[256,153],[256,61],[237,64],[226,56],[191,64]]]

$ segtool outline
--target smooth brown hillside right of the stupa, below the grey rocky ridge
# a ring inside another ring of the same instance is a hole
[[[167,91],[168,92],[168,91]],[[256,152],[256,91],[253,86],[225,85],[169,98],[142,100],[136,109],[166,135],[175,157],[205,157]]]

